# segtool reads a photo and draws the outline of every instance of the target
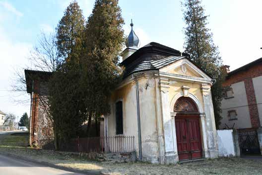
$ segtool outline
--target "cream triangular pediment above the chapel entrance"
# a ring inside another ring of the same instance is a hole
[[[178,60],[170,65],[167,65],[161,68],[159,71],[188,77],[210,79],[210,77],[208,77],[203,71],[197,68],[186,58]]]

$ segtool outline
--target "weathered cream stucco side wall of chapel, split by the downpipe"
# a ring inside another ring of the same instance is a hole
[[[156,126],[156,80],[154,78],[138,79],[140,126],[143,161],[158,163],[158,137]],[[123,127],[126,136],[135,136],[135,150],[138,151],[138,126],[136,108],[136,86],[132,82],[116,90],[111,98],[111,114],[108,115],[108,135],[116,135],[115,103],[123,101]],[[138,152],[137,152],[137,155]]]

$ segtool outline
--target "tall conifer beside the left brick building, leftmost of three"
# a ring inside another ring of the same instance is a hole
[[[57,50],[60,64],[49,85],[50,111],[56,149],[76,137],[85,120],[79,87],[79,58],[83,47],[85,20],[76,1],[71,2],[57,26]]]

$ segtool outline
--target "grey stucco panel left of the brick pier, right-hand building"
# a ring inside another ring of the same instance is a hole
[[[251,121],[250,121],[250,114],[248,108],[248,100],[246,95],[246,89],[244,82],[238,82],[231,85],[234,97],[223,99],[222,100],[222,120],[221,125],[219,126],[220,129],[226,128],[225,124],[228,127],[233,127],[236,129],[241,128],[250,128]],[[237,112],[237,120],[229,120],[228,118],[228,111],[229,110],[236,110]]]

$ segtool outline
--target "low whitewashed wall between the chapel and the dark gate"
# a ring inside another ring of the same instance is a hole
[[[218,156],[235,156],[233,130],[217,130]]]

